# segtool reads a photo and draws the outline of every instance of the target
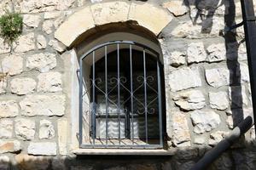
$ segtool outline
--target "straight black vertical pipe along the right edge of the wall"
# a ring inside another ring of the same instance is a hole
[[[241,0],[241,12],[242,20],[244,22],[243,26],[247,45],[247,59],[252,91],[253,117],[254,120],[256,120],[256,23],[253,1]]]

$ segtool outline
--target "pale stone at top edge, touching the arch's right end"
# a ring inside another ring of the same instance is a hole
[[[183,1],[169,1],[163,3],[163,7],[167,8],[174,16],[182,16],[189,12],[189,8],[183,4]]]

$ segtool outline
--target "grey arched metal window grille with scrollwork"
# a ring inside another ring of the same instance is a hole
[[[160,54],[137,42],[107,42],[79,67],[80,148],[163,147]]]

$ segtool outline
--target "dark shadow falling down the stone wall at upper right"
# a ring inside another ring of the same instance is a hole
[[[214,14],[220,7],[224,7],[225,27],[228,28],[237,24],[236,3],[234,0],[183,0],[183,4],[189,8],[189,16],[193,25],[201,26],[201,33],[211,33]],[[196,14],[191,14],[192,6],[197,9]],[[191,17],[192,15],[193,18]],[[220,31],[219,36],[224,37],[226,65],[230,71],[230,110],[233,118],[233,127],[236,127],[246,117],[242,108],[241,65],[238,61],[238,48],[244,41],[238,42],[236,29],[227,32]]]

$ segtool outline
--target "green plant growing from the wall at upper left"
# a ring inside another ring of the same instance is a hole
[[[0,36],[12,44],[22,33],[22,17],[18,13],[8,13],[0,17]]]

